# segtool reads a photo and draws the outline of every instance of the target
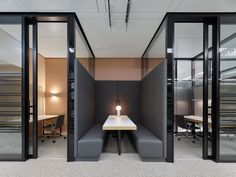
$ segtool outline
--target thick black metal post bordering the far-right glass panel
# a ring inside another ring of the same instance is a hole
[[[212,158],[219,161],[220,109],[220,17],[214,18],[212,31]]]

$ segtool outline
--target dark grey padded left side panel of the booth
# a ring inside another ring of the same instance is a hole
[[[77,142],[95,123],[95,81],[83,65],[75,60],[75,136]],[[74,143],[74,154],[78,147]]]

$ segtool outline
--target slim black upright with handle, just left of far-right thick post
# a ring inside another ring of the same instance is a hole
[[[203,159],[208,158],[208,23],[203,25]]]

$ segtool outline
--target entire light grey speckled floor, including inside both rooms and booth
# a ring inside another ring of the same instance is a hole
[[[200,141],[175,141],[175,163],[142,162],[130,149],[118,156],[111,145],[98,162],[68,163],[65,142],[60,138],[56,144],[41,144],[36,160],[0,162],[0,177],[236,177],[236,163],[202,160]]]

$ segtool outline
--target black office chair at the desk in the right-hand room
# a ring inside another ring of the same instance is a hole
[[[195,124],[188,123],[186,119],[184,118],[184,115],[175,115],[176,125],[177,128],[180,127],[184,129],[183,132],[176,133],[176,137],[178,137],[178,141],[181,140],[181,137],[193,137],[192,143],[196,143],[196,140],[199,140],[196,138],[196,134],[193,134],[192,132],[200,129],[199,127],[195,126]]]

